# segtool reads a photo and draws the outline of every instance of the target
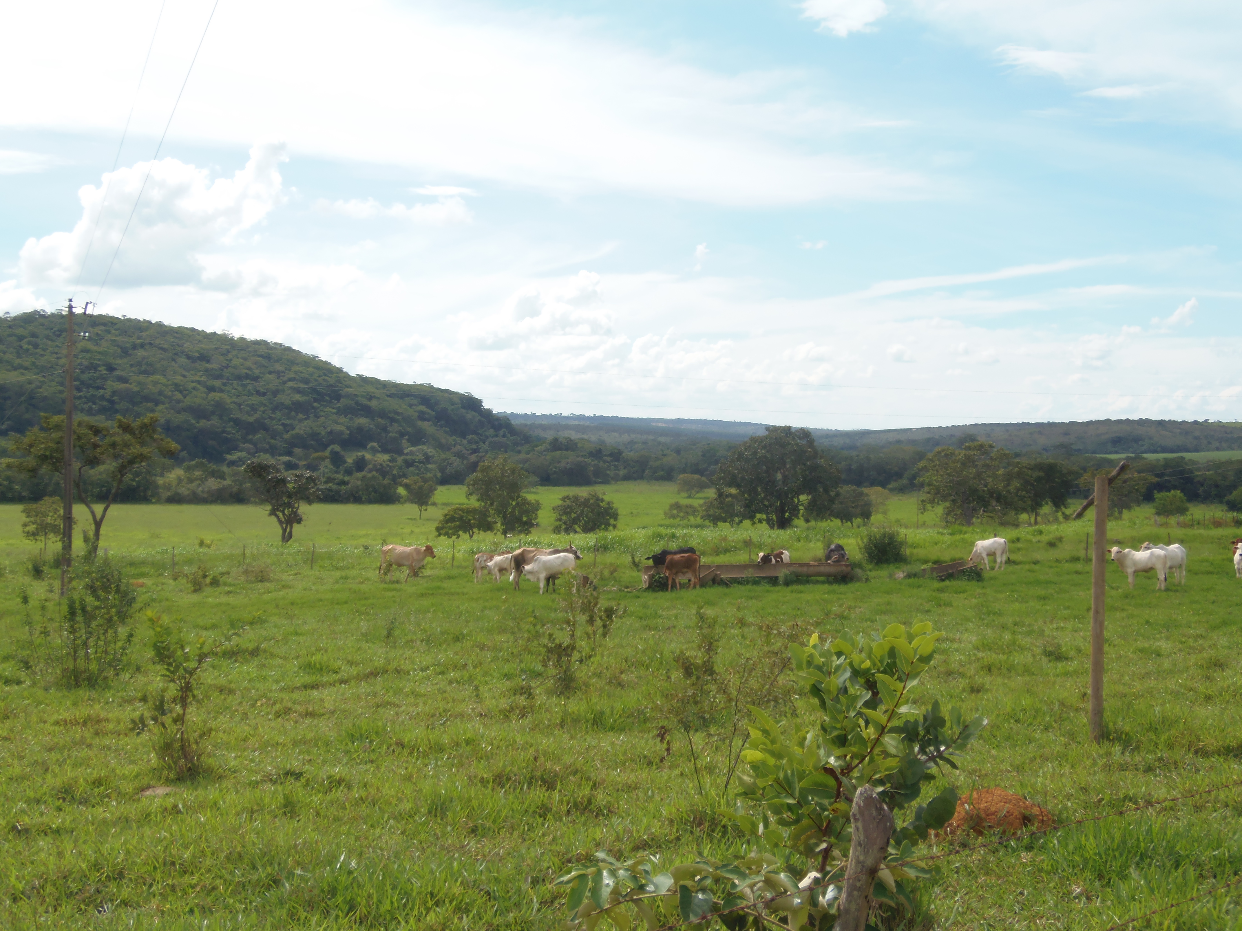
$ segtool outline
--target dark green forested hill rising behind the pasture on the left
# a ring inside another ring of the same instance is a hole
[[[89,334],[76,349],[77,412],[159,413],[191,459],[370,443],[397,454],[407,447],[471,454],[530,438],[471,395],[350,375],[278,343],[97,314],[77,323]],[[65,410],[63,371],[63,314],[0,318],[0,436]]]

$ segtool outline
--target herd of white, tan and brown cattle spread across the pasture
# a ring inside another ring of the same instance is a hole
[[[1233,569],[1238,578],[1242,578],[1242,539],[1232,540]],[[428,559],[435,559],[436,551],[431,546],[396,546],[390,544],[384,546],[380,556],[380,573],[386,573],[392,566],[405,566],[406,581],[417,573]],[[979,540],[970,551],[966,565],[984,564],[984,569],[991,570],[989,557],[995,561],[996,569],[1005,569],[1009,560],[1009,541],[1000,536],[990,540]],[[546,550],[535,546],[523,546],[513,552],[481,552],[474,556],[474,581],[483,578],[486,572],[492,573],[492,580],[501,581],[501,573],[508,572],[509,581],[514,588],[522,583],[525,576],[539,583],[539,593],[543,595],[549,587],[555,588],[556,578],[564,572],[571,572],[582,554],[574,546],[565,546],[559,550]],[[699,556],[693,546],[684,546],[679,550],[661,550],[645,559],[651,560],[652,566],[661,566],[668,578],[668,590],[672,591],[676,582],[678,591],[682,587],[682,578],[691,583],[691,588],[697,588],[699,583]],[[1172,570],[1174,581],[1186,583],[1186,547],[1181,544],[1145,542],[1139,551],[1123,550],[1114,546],[1112,559],[1130,580],[1134,587],[1134,576],[1138,572],[1155,572],[1156,588],[1163,591],[1167,582],[1169,571]],[[760,552],[758,564],[770,565],[779,562],[791,562],[789,550],[775,550],[773,552]],[[841,544],[832,544],[823,554],[825,562],[848,562],[850,556]]]

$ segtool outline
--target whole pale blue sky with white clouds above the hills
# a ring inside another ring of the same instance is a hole
[[[0,313],[497,411],[1242,420],[1240,37],[1228,0],[21,4]]]

